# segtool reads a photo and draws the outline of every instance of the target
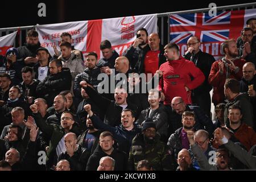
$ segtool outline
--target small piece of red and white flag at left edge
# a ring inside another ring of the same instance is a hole
[[[1,38],[0,38],[0,55],[5,56],[7,49],[9,49],[10,47],[13,47],[16,34],[17,34],[17,31],[15,31],[11,34],[5,35],[5,36],[1,36]]]

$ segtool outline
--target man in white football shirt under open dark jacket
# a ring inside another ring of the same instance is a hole
[[[48,49],[40,47],[36,50],[36,57],[38,63],[33,67],[34,78],[43,81],[49,75],[49,61],[51,60],[51,55]]]

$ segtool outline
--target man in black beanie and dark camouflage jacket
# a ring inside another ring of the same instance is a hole
[[[142,133],[137,134],[131,145],[128,169],[134,171],[138,162],[148,160],[156,171],[174,170],[174,162],[168,154],[167,144],[160,141],[156,125],[148,118],[142,126]]]

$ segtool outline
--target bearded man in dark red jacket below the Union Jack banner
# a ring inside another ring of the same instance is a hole
[[[243,73],[242,68],[245,60],[238,56],[236,40],[228,39],[222,44],[222,51],[225,57],[215,61],[210,69],[208,81],[213,86],[212,102],[214,106],[224,102],[224,85],[227,78],[236,78],[240,81]]]

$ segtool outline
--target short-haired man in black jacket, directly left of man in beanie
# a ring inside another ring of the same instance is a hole
[[[112,133],[104,131],[100,135],[99,146],[94,150],[90,156],[86,171],[96,171],[100,159],[104,156],[110,156],[115,160],[114,171],[123,171],[127,168],[127,157],[126,155],[113,147],[114,139]]]

